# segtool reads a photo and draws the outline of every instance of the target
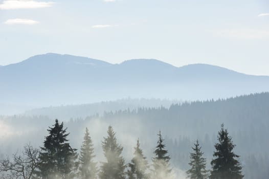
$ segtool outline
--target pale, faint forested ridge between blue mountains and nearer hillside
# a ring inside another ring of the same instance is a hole
[[[103,101],[97,103],[86,103],[80,105],[62,105],[42,108],[34,108],[25,111],[28,116],[48,116],[68,121],[70,118],[86,118],[96,114],[103,115],[104,111],[133,110],[140,107],[170,107],[172,104],[181,103],[180,100],[162,99],[121,99],[116,101]]]

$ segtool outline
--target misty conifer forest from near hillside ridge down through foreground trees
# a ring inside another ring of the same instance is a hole
[[[261,93],[64,121],[1,116],[19,133],[1,140],[1,177],[267,178],[268,101]]]

